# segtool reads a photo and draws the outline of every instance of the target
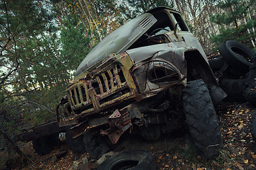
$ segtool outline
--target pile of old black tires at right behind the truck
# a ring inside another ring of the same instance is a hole
[[[227,101],[256,101],[256,53],[239,42],[228,40],[219,47],[221,57],[209,60],[218,75]]]

